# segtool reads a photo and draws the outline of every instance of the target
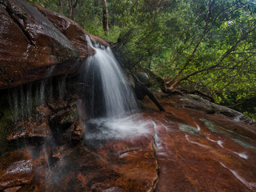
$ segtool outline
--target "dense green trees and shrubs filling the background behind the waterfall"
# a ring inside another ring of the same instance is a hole
[[[254,0],[32,2],[114,42],[122,65],[146,70],[164,92],[198,91],[256,117]],[[106,8],[109,32],[102,27]]]

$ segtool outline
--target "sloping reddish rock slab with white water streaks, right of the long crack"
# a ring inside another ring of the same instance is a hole
[[[175,99],[159,98],[165,113],[146,111],[156,130],[158,191],[256,190],[255,126],[174,107]]]

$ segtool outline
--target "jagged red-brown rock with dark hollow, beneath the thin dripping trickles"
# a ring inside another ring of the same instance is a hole
[[[70,101],[59,99],[53,103],[43,103],[36,107],[34,113],[26,121],[17,123],[14,131],[7,137],[7,140],[31,140],[35,138],[37,142],[42,142],[41,140],[46,139],[48,136],[54,136],[61,140],[62,134],[60,133],[65,132],[68,128],[70,128],[69,132],[71,132],[67,133],[69,135],[78,131],[73,127],[77,118],[78,112],[76,110],[75,98]],[[40,140],[39,138],[42,139]]]

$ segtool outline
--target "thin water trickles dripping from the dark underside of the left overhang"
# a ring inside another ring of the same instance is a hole
[[[46,71],[46,78],[39,82],[30,82],[26,85],[17,86],[9,90],[8,102],[12,109],[13,122],[26,121],[33,114],[35,106],[40,106],[45,102],[53,102],[54,95],[58,94],[59,98],[65,97],[66,75],[58,77],[57,88],[54,90],[53,73],[55,66],[50,66]]]

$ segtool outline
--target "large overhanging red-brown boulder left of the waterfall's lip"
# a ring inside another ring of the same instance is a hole
[[[0,20],[0,89],[74,74],[94,54],[76,22],[25,0],[1,1]]]

